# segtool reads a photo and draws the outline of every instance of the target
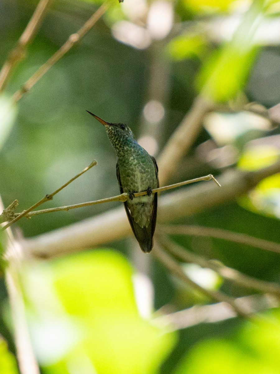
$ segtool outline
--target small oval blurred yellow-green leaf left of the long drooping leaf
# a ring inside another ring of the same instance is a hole
[[[186,58],[200,56],[206,43],[202,36],[179,36],[168,44],[168,53],[174,60],[180,61]]]

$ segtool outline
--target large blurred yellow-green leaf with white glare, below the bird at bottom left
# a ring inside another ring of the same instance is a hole
[[[158,372],[176,334],[141,318],[132,277],[127,260],[108,250],[29,269],[31,330],[46,373]]]

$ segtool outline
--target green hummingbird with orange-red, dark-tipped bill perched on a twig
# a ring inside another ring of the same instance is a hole
[[[116,151],[116,176],[121,193],[128,193],[124,202],[131,229],[143,252],[153,248],[156,227],[158,194],[152,193],[159,187],[158,166],[153,156],[137,143],[131,129],[124,123],[109,123],[89,112],[105,127],[108,138]],[[147,191],[147,195],[134,194]]]

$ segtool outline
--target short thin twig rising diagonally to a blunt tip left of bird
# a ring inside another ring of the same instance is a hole
[[[55,196],[57,193],[59,193],[61,190],[63,190],[63,188],[65,188],[66,186],[68,186],[68,184],[72,183],[75,179],[77,179],[78,177],[80,177],[81,175],[83,175],[86,171],[88,171],[89,169],[91,169],[95,165],[97,165],[97,161],[96,160],[94,160],[89,166],[87,166],[87,168],[85,168],[79,174],[75,175],[75,177],[71,178],[68,182],[66,182],[65,184],[63,184],[63,186],[57,188],[57,190],[55,190],[51,194],[47,194],[46,196],[43,197],[43,199],[39,200],[34,205],[30,206],[30,208],[28,208],[26,211],[23,211],[23,212],[21,212],[18,215],[13,214],[12,220],[9,223],[7,223],[5,226],[3,226],[0,231],[3,231],[5,229],[7,229],[7,227],[10,227],[13,223],[15,223],[16,221],[20,220],[22,217],[27,217],[27,215],[28,215],[29,212],[31,212],[32,210],[36,209],[38,206],[42,205],[46,201],[52,200],[53,196]],[[16,208],[17,206],[18,206],[18,200],[15,200],[14,202],[12,202],[12,204],[10,204],[8,206],[8,208],[4,209],[3,212],[2,212],[2,214],[0,215],[0,220],[2,219],[2,221],[0,221],[0,223],[3,223],[3,222],[5,222],[7,220],[8,213],[10,215],[12,214],[12,212],[11,212],[12,208],[11,207]]]

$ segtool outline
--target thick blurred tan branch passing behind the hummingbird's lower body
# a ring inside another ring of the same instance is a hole
[[[231,169],[219,177],[222,188],[214,183],[182,188],[162,196],[158,204],[158,223],[169,223],[242,196],[262,179],[280,172],[280,161],[257,171]],[[104,245],[131,234],[123,207],[93,218],[41,234],[21,242],[25,256],[56,257],[93,246]]]

